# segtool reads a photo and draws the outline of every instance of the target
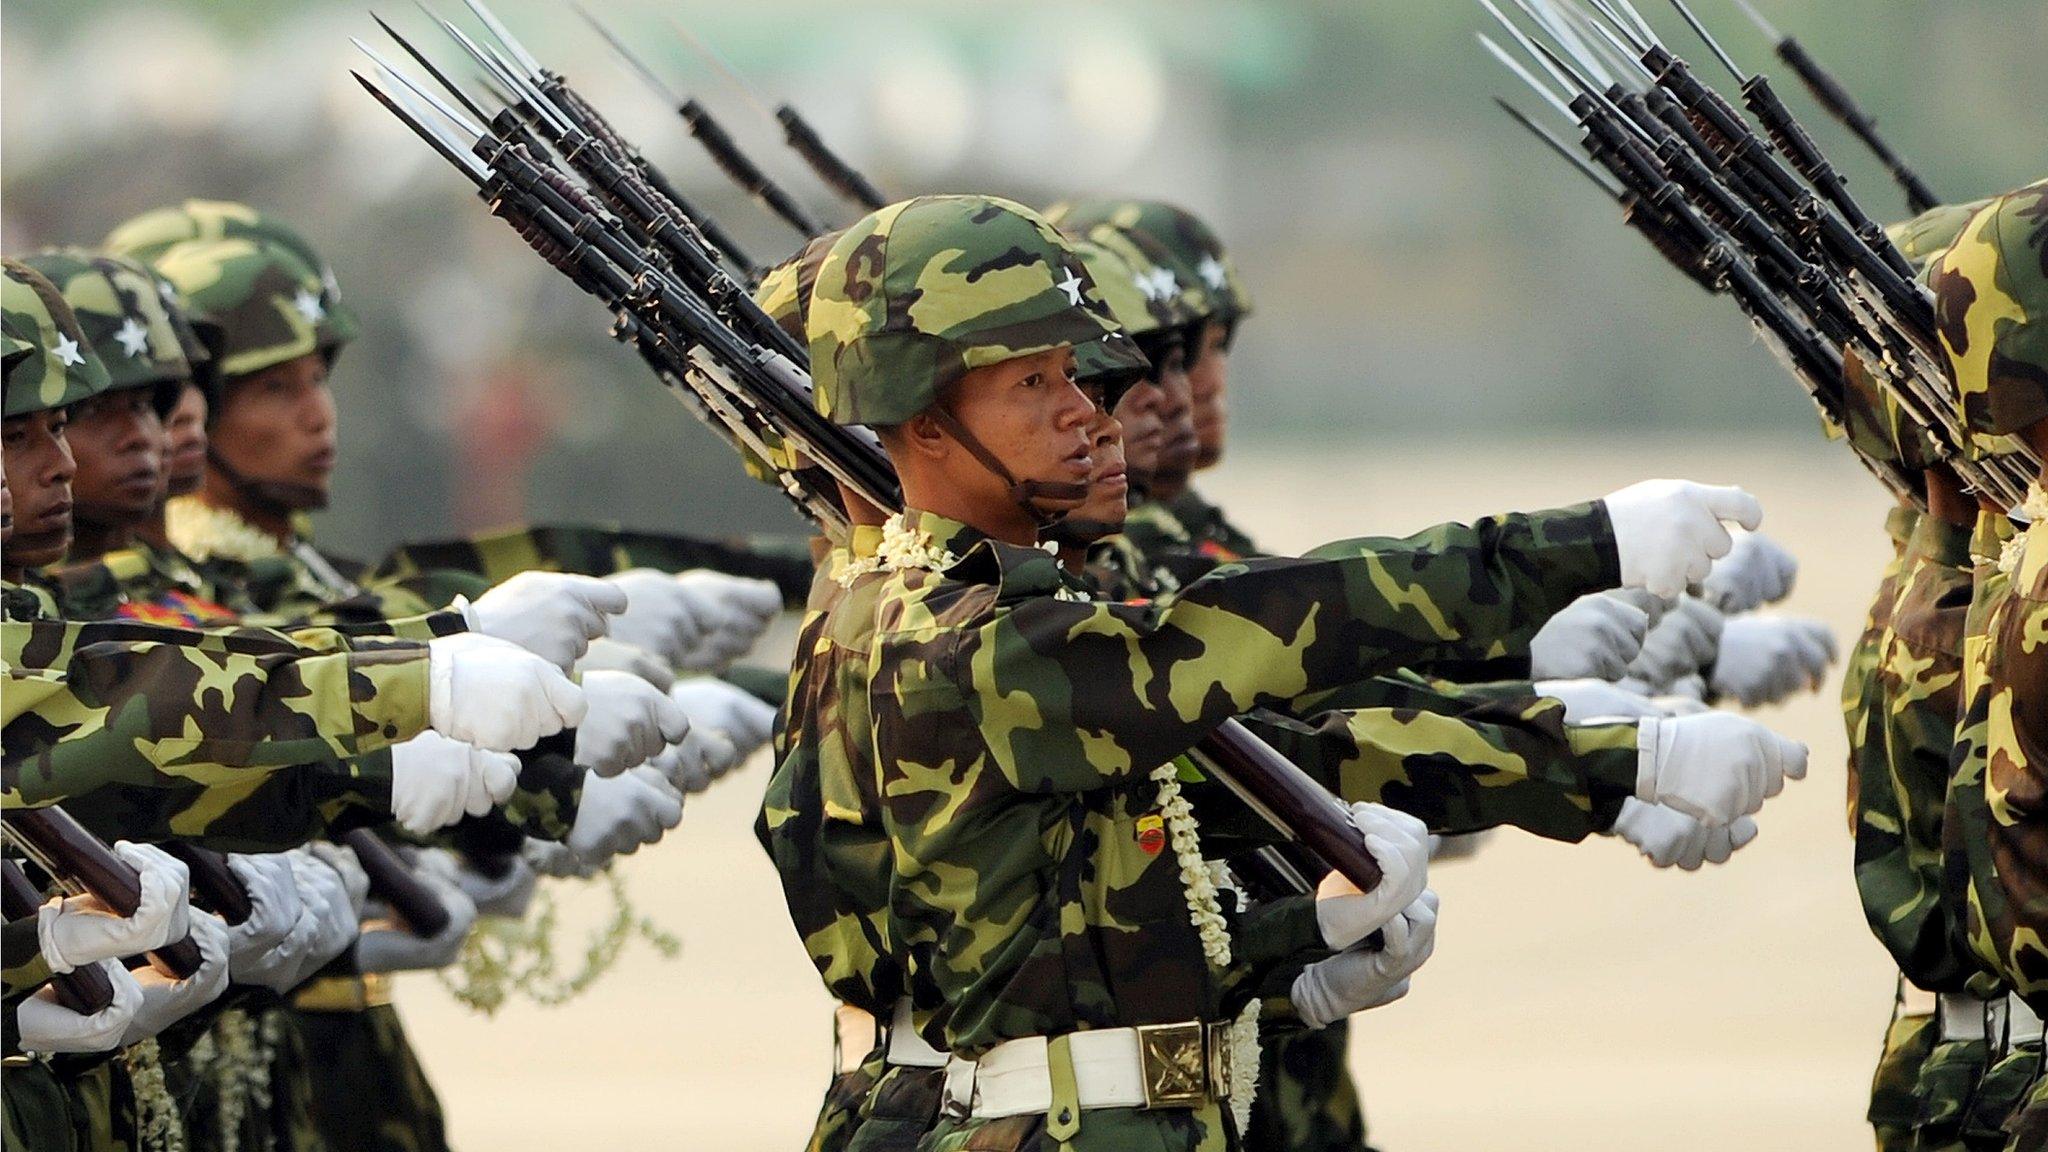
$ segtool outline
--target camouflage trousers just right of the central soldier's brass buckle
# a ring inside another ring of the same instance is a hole
[[[1245,1148],[1253,1152],[1358,1152],[1366,1115],[1352,1082],[1352,1025],[1274,1035],[1260,1052],[1260,1095]]]

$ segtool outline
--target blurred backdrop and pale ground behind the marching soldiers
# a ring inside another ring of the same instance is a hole
[[[1475,4],[586,4],[831,223],[852,211],[668,18],[768,102],[793,100],[889,193],[1161,195],[1208,217],[1260,314],[1237,346],[1233,459],[1204,488],[1272,547],[1686,471],[1763,494],[1806,562],[1792,609],[1853,637],[1882,494],[1821,443],[1726,301],[1679,279],[1491,107],[1534,102],[1473,41],[1487,25]],[[1667,10],[1640,6],[1724,80]],[[1776,64],[1729,0],[1696,6],[1739,61]],[[1939,195],[2042,174],[2048,4],[1759,6]],[[799,244],[567,4],[498,12],[752,254]],[[416,6],[381,14],[451,59]],[[610,344],[606,316],[354,86],[348,35],[379,39],[360,0],[6,2],[0,246],[94,242],[182,197],[299,225],[365,316],[334,377],[342,467],[319,533],[340,551],[518,519],[801,535]],[[1780,84],[1874,215],[1903,215],[1868,154]],[[1767,717],[1815,744],[1819,779],[1714,875],[1528,838],[1446,869],[1430,976],[1358,1037],[1378,1142],[1868,1146],[1864,1082],[1890,978],[1849,883],[1831,693]],[[494,1021],[430,980],[406,990],[459,1142],[803,1138],[827,1021],[745,830],[764,779],[760,763],[731,777],[629,867],[645,908],[684,937],[682,959],[635,953],[575,1006]]]

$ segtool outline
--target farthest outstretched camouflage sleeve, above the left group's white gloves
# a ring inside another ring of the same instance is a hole
[[[537,525],[498,529],[463,539],[393,547],[371,580],[408,580],[430,572],[469,572],[498,584],[520,572],[612,576],[629,568],[686,572],[711,568],[731,576],[774,580],[782,603],[803,607],[811,588],[811,556],[782,539],[700,539],[678,533],[629,531],[618,525]]]

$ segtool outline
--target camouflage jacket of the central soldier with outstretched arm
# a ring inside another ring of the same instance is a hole
[[[1229,564],[1149,605],[1069,594],[1040,549],[911,525],[944,570],[883,578],[868,654],[891,933],[942,1004],[926,1037],[965,1054],[1219,1019],[1178,865],[1143,834],[1149,771],[1253,707],[1511,652],[1522,619],[1618,576],[1597,506]]]

